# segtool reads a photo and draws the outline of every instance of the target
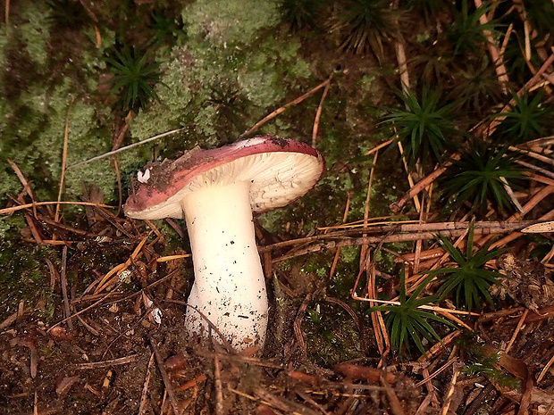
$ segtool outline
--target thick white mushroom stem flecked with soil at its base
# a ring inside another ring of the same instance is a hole
[[[249,182],[238,181],[199,188],[181,202],[195,273],[188,303],[239,350],[252,344],[263,346],[267,328],[267,295],[249,187]],[[190,307],[185,325],[189,332],[204,336],[209,329]]]

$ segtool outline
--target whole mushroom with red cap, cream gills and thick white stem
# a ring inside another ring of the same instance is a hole
[[[201,311],[236,349],[264,345],[268,305],[252,214],[306,194],[323,164],[309,145],[264,136],[212,150],[197,147],[139,172],[142,180],[133,181],[125,214],[187,223],[195,274],[185,317],[189,333],[206,336]]]

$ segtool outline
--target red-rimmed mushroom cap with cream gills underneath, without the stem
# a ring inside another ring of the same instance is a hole
[[[323,156],[288,138],[254,137],[211,150],[195,148],[174,161],[149,162],[123,206],[134,219],[182,219],[181,200],[200,188],[250,183],[253,212],[294,202],[323,174]]]

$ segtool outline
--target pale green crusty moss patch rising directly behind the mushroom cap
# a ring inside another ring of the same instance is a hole
[[[182,127],[180,149],[232,141],[242,132],[238,126],[253,125],[267,108],[282,104],[290,84],[310,75],[298,40],[285,47],[275,40],[275,4],[251,9],[245,0],[225,6],[212,0],[183,11],[189,39],[175,46],[162,66],[164,75],[155,88],[160,102],[132,122],[135,140]],[[222,90],[245,98],[235,108],[239,122],[222,125],[219,104],[213,103],[214,93],[221,95]],[[278,133],[281,126],[288,128],[281,123],[270,129]]]

